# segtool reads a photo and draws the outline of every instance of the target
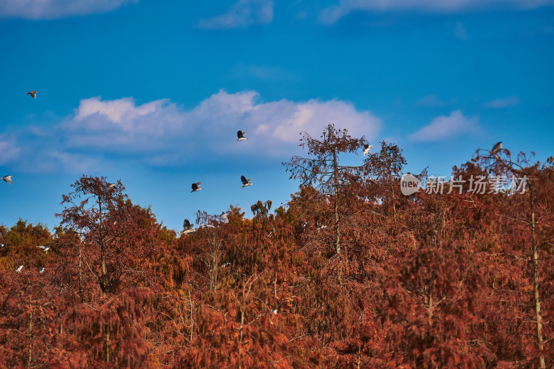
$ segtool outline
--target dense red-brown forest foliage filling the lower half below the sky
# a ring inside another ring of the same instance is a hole
[[[329,136],[337,155],[365,142]],[[405,164],[383,143],[355,170],[317,169],[273,214],[271,201],[253,219],[231,206],[229,223],[199,211],[213,227],[181,235],[122,183],[82,177],[55,234],[0,226],[0,367],[553,366],[553,159],[505,150],[453,168],[526,175],[517,194],[446,182],[404,196]]]

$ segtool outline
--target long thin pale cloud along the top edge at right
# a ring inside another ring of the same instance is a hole
[[[553,4],[554,0],[340,0],[337,5],[325,8],[321,12],[321,21],[332,24],[355,10],[457,12],[487,8],[533,9]]]

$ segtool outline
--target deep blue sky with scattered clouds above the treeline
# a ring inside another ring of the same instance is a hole
[[[178,231],[251,215],[297,190],[280,163],[328,122],[397,143],[406,171],[497,141],[544,160],[553,46],[553,0],[0,0],[0,224],[57,225],[83,173]]]

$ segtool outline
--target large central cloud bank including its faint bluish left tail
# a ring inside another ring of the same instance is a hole
[[[221,90],[192,109],[168,99],[139,104],[133,98],[87,98],[71,116],[46,130],[47,135],[44,129],[27,128],[20,141],[33,145],[24,150],[33,153],[24,160],[28,171],[58,167],[83,172],[87,165],[114,158],[157,166],[226,161],[233,154],[288,159],[299,150],[300,132],[319,136],[328,123],[368,139],[375,138],[381,126],[370,111],[348,101],[264,102],[256,91]],[[239,129],[249,139],[235,143]],[[14,153],[12,145],[3,149],[2,142],[0,153]]]

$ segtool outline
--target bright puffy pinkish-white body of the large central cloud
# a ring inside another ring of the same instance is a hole
[[[233,150],[238,129],[249,132],[249,147],[278,154],[284,151],[283,145],[298,143],[298,133],[320,134],[328,123],[348,128],[352,135],[372,138],[380,127],[370,111],[357,111],[350,102],[262,102],[256,91],[222,90],[188,111],[166,99],[136,105],[132,98],[89,98],[81,100],[62,129],[72,148],[102,147],[114,152],[170,148],[169,157],[177,157],[173,150],[185,143],[190,149]]]

